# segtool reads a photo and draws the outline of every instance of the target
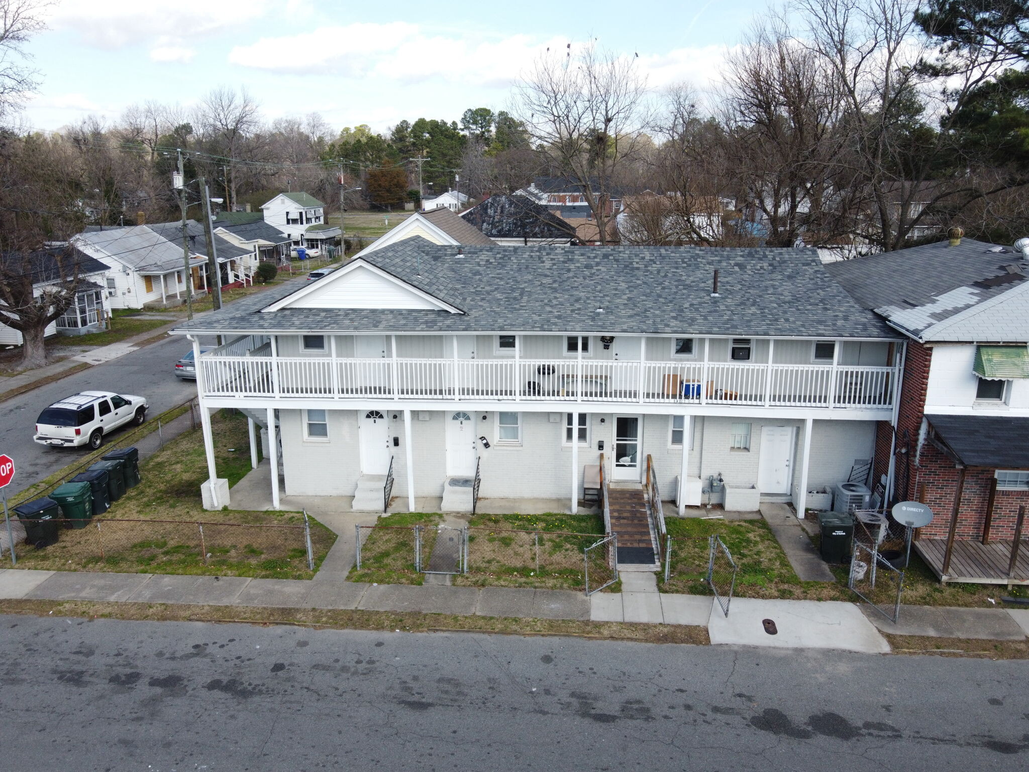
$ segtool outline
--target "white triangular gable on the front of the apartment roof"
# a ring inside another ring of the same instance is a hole
[[[446,311],[461,310],[434,297],[421,287],[405,282],[362,259],[351,260],[323,279],[309,283],[264,309],[267,313],[286,309],[379,309]]]

